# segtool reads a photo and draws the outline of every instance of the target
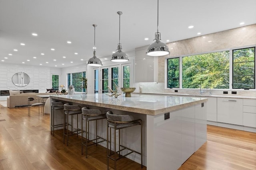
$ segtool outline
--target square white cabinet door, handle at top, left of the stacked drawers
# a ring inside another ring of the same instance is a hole
[[[217,121],[234,125],[243,125],[243,100],[235,98],[217,98]]]

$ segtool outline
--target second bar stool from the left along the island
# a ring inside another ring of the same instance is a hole
[[[78,129],[78,115],[82,114],[81,106],[79,105],[70,105],[64,104],[64,122],[63,122],[63,143],[65,143],[65,136],[67,137],[67,146],[68,146],[68,136],[77,135],[81,133],[81,129]],[[68,123],[68,117],[71,115],[71,124]],[[73,131],[73,115],[76,115],[76,126],[77,129]],[[66,121],[67,119],[67,121]],[[71,132],[68,132],[68,125],[71,126]],[[65,129],[67,126],[67,133],[65,133]]]

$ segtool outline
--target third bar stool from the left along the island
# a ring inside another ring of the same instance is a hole
[[[83,146],[85,146],[85,154],[86,154],[86,158],[87,158],[87,151],[88,151],[88,147],[91,145],[98,145],[98,143],[104,142],[106,141],[106,139],[98,136],[98,120],[100,119],[106,119],[106,113],[102,113],[102,111],[100,109],[89,109],[89,107],[83,107],[82,108],[82,154],[84,152],[83,150]],[[83,131],[83,120],[85,120],[85,131]],[[90,121],[96,121],[96,138],[95,139],[89,139],[90,136]],[[85,133],[86,136],[86,140],[85,142],[83,141],[83,133]],[[101,141],[98,141],[99,139],[101,139]],[[96,141],[94,143],[91,143],[91,141]]]

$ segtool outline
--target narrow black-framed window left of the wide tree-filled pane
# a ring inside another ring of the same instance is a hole
[[[167,88],[180,88],[180,58],[167,59]]]

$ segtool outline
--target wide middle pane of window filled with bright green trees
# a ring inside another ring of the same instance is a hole
[[[220,51],[182,57],[182,88],[201,86],[228,89],[229,53],[229,51]]]

